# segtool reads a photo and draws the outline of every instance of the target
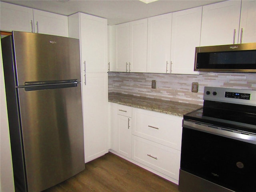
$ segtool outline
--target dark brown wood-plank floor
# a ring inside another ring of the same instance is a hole
[[[85,170],[44,192],[178,192],[169,182],[112,153],[85,164]]]

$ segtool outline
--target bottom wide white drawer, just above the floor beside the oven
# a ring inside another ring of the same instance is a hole
[[[179,180],[179,150],[132,135],[132,159]]]

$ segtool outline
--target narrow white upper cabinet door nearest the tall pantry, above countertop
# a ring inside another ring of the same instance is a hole
[[[129,23],[116,26],[116,71],[129,72]]]

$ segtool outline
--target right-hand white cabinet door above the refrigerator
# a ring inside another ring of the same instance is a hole
[[[33,13],[35,29],[34,32],[68,37],[67,16],[36,9],[33,10]]]

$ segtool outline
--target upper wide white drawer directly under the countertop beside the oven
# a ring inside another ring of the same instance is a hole
[[[182,117],[134,109],[132,134],[181,150]]]

